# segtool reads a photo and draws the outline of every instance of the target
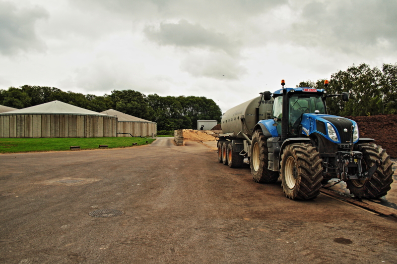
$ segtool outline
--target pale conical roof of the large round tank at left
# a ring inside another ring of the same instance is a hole
[[[19,110],[13,110],[0,114],[77,114],[77,115],[98,115],[109,116],[107,114],[98,113],[87,110],[78,106],[72,106],[61,101],[52,101],[37,106],[30,106]]]

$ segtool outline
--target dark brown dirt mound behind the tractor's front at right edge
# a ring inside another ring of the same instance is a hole
[[[386,149],[392,158],[397,158],[396,114],[345,117],[357,122],[360,138],[375,139],[376,144]]]

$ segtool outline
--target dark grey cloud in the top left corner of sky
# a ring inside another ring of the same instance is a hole
[[[48,12],[39,6],[18,9],[11,2],[0,1],[0,53],[44,51],[46,45],[37,36],[35,23],[48,16]]]

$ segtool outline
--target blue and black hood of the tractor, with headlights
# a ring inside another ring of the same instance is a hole
[[[354,142],[358,141],[358,126],[353,120],[330,114],[302,114],[302,133],[309,136],[319,133],[334,143],[349,143],[356,130]],[[336,136],[336,137],[335,137]]]

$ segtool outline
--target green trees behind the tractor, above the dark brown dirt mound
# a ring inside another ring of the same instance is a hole
[[[297,87],[324,89],[324,80],[300,82]],[[331,114],[365,116],[379,113],[397,114],[397,64],[383,64],[382,69],[368,64],[352,65],[331,75],[328,94],[347,92],[350,100],[327,98]]]

